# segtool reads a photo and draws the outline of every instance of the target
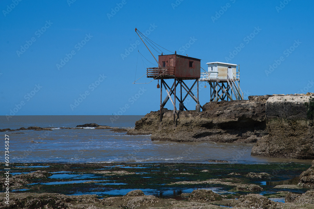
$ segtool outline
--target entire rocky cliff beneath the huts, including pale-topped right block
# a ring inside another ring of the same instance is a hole
[[[253,156],[314,159],[314,93],[249,96],[249,100],[209,102],[205,111],[150,112],[129,135],[152,134],[155,141],[256,143]],[[310,112],[310,113],[309,113]]]

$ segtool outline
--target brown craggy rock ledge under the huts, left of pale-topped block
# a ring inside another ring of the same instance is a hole
[[[254,101],[206,103],[205,111],[179,112],[173,129],[173,111],[150,112],[135,123],[127,134],[152,134],[156,141],[256,142],[267,135],[265,104],[270,96],[250,97]],[[252,137],[253,136],[253,137]]]

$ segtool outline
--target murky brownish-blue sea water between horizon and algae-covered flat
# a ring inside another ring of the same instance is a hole
[[[107,129],[74,128],[97,123],[118,128],[134,128],[143,116],[14,116],[0,117],[0,128],[39,126],[52,131],[20,130],[0,132],[10,136],[10,163],[229,163],[265,164],[311,160],[251,156],[254,143],[151,141],[150,135],[133,136]],[[113,120],[114,119],[114,120]],[[0,135],[1,136],[1,135]]]

